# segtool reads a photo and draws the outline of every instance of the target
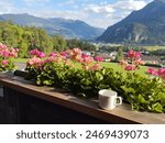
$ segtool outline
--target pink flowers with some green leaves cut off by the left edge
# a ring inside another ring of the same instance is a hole
[[[18,56],[18,48],[9,48],[7,45],[0,43],[0,72],[15,68],[12,58]]]

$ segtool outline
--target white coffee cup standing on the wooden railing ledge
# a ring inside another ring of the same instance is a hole
[[[110,89],[99,90],[99,106],[106,110],[112,110],[118,105],[122,103],[122,98],[117,96],[118,94]]]

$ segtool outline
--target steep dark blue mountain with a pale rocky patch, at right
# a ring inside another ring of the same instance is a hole
[[[154,0],[122,21],[109,26],[98,41],[165,45],[165,0]]]

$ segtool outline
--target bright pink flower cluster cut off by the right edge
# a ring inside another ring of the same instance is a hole
[[[146,73],[151,74],[153,76],[158,76],[158,77],[161,77],[162,79],[165,80],[165,68],[158,68],[158,69],[148,68]]]

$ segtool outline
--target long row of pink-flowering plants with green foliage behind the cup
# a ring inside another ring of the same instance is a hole
[[[121,62],[124,73],[101,67],[101,57],[84,55],[78,48],[48,56],[33,50],[31,56],[25,78],[36,85],[63,88],[84,98],[98,98],[100,89],[112,89],[133,110],[165,112],[165,84],[158,78],[151,79],[135,73],[144,64],[140,53],[130,51],[127,54],[125,61]]]

